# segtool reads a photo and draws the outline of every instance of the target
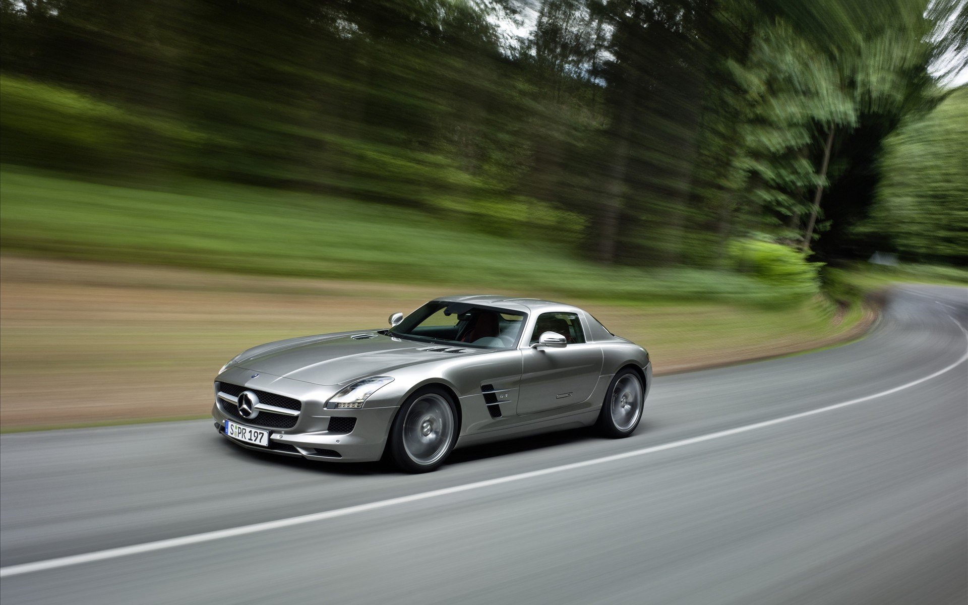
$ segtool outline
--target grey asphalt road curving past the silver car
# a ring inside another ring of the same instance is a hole
[[[965,325],[968,290],[906,287],[857,343],[656,378],[630,439],[426,475],[262,455],[209,421],[6,435],[0,601],[961,604]]]

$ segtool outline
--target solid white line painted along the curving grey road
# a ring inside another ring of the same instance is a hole
[[[954,318],[952,319],[954,320]],[[961,327],[961,324],[958,323],[957,320],[954,320],[954,322],[958,324],[958,327],[961,329],[962,332],[965,333],[966,338],[968,338],[968,331],[966,331],[963,327]],[[772,420],[766,420],[764,422],[747,424],[745,426],[741,426],[735,429],[728,429],[726,431],[710,433],[709,435],[702,435],[700,437],[693,437],[689,439],[681,439],[679,441],[663,443],[662,445],[652,445],[650,447],[644,447],[642,449],[635,449],[627,452],[622,452],[620,454],[613,454],[611,456],[603,456],[601,458],[593,458],[591,460],[583,460],[582,462],[561,465],[560,467],[551,467],[549,469],[540,469],[540,470],[530,470],[529,472],[521,472],[518,474],[498,477],[496,479],[487,479],[485,481],[475,481],[474,483],[465,483],[464,485],[456,485],[454,487],[433,490],[430,492],[423,492],[421,494],[412,494],[410,496],[402,496],[400,498],[383,499],[383,500],[378,500],[376,502],[370,502],[367,504],[357,504],[356,506],[347,506],[346,508],[326,510],[323,512],[311,513],[309,515],[301,515],[299,517],[289,517],[288,519],[280,519],[278,521],[256,523],[253,525],[242,526],[239,528],[206,531],[204,533],[196,533],[194,535],[186,535],[178,538],[168,538],[166,540],[158,540],[156,542],[145,542],[143,544],[135,544],[132,546],[122,546],[120,548],[109,548],[103,551],[85,553],[82,555],[72,555],[70,557],[59,557],[57,559],[38,560],[31,563],[19,563],[16,565],[8,565],[6,567],[0,567],[0,578],[18,576],[21,574],[32,573],[35,571],[44,571],[46,569],[56,569],[58,567],[68,567],[71,565],[78,565],[80,563],[89,563],[97,560],[117,559],[118,557],[127,557],[128,555],[137,555],[140,553],[150,553],[154,551],[165,550],[168,548],[175,548],[178,546],[188,546],[190,544],[198,544],[201,542],[211,542],[212,540],[219,540],[222,538],[229,538],[237,535],[246,535],[248,533],[256,533],[257,531],[289,528],[292,526],[298,526],[298,525],[303,525],[307,523],[314,523],[316,521],[334,519],[336,517],[346,517],[348,515],[353,515],[356,513],[367,512],[370,510],[377,510],[379,508],[388,508],[390,506],[395,506],[397,504],[407,504],[409,502],[416,502],[423,499],[438,498],[439,496],[447,496],[450,494],[469,492],[470,490],[478,490],[485,487],[491,487],[493,485],[511,483],[512,481],[521,481],[523,479],[530,479],[533,477],[540,477],[547,474],[564,472],[565,470],[584,469],[585,467],[602,465],[605,463],[615,462],[617,460],[624,460],[626,458],[633,458],[636,456],[644,456],[646,454],[661,452],[667,449],[682,447],[684,445],[692,445],[693,443],[702,443],[703,441],[709,441],[711,439],[719,439],[722,437],[729,437],[731,435],[739,435],[741,433],[746,433],[748,431],[755,431],[756,429],[771,427],[773,425],[781,424],[783,422],[790,422],[791,420],[805,418],[807,416],[812,416],[814,414],[819,414],[825,411],[831,411],[832,409],[846,408],[847,406],[860,404],[862,402],[870,401],[878,397],[891,395],[892,393],[896,393],[897,391],[910,388],[912,386],[915,386],[916,384],[921,384],[926,380],[930,380],[931,378],[937,378],[942,374],[945,374],[946,372],[950,372],[958,365],[963,363],[965,360],[968,360],[968,350],[966,350],[965,354],[961,355],[961,357],[957,361],[955,361],[952,365],[948,366],[947,368],[944,368],[943,370],[939,370],[934,374],[931,374],[924,378],[919,378],[917,380],[913,380],[906,384],[895,386],[892,389],[881,391],[880,393],[867,395],[866,397],[860,397],[858,399],[852,399],[850,401],[841,402],[839,404],[834,404],[832,406],[827,406],[825,408],[811,409],[809,411],[802,411],[800,413],[791,414],[789,416],[782,416],[780,418],[774,418]]]

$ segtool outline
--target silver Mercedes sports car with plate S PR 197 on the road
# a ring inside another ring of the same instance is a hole
[[[444,296],[387,330],[250,348],[215,379],[215,428],[311,460],[437,469],[454,447],[596,425],[628,437],[649,353],[547,300]]]

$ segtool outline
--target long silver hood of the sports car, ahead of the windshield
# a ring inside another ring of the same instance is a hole
[[[316,384],[342,384],[353,378],[374,376],[416,363],[489,350],[408,341],[376,332],[344,332],[250,348],[232,365]]]

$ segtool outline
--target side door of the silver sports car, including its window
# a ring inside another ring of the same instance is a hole
[[[534,322],[529,345],[537,343],[543,332],[564,336],[567,345],[522,351],[519,415],[580,404],[589,399],[601,375],[601,347],[586,342],[586,330],[578,313],[541,314]]]

